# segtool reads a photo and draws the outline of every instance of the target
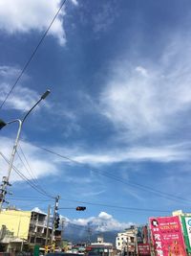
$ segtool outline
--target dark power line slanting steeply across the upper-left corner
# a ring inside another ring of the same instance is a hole
[[[12,87],[11,87],[11,90],[10,92],[7,94],[5,100],[2,102],[2,104],[0,105],[0,109],[3,107],[3,105],[6,103],[6,101],[8,100],[8,98],[10,97],[11,95],[11,92],[12,90],[14,89],[14,87],[16,86],[16,84],[18,83],[18,81],[21,79],[21,77],[23,76],[25,70],[27,69],[27,67],[29,66],[29,64],[31,63],[32,61],[32,58],[34,57],[34,55],[36,54],[38,48],[40,47],[40,45],[42,44],[44,38],[46,37],[46,35],[48,34],[48,32],[50,31],[52,25],[53,25],[53,22],[55,20],[55,18],[57,17],[57,15],[59,14],[59,12],[61,11],[61,9],[63,8],[63,6],[65,5],[67,0],[64,0],[62,2],[62,4],[60,5],[58,11],[55,13],[55,15],[53,16],[53,20],[51,21],[50,25],[48,26],[47,30],[45,31],[44,35],[42,35],[42,37],[40,38],[39,42],[37,43],[37,45],[35,46],[34,50],[32,51],[32,55],[31,57],[28,59],[28,61],[25,63],[23,69],[21,70],[18,78],[16,79],[16,81],[13,83]]]

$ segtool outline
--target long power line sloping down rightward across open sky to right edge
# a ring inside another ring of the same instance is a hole
[[[112,178],[114,180],[116,180],[117,182],[120,182],[120,183],[123,183],[125,185],[128,185],[128,186],[132,186],[132,187],[137,187],[143,191],[146,191],[146,192],[151,192],[152,194],[155,194],[156,196],[159,196],[160,198],[167,198],[167,199],[170,199],[170,200],[174,200],[174,201],[185,201],[185,202],[190,202],[190,200],[187,200],[185,198],[181,198],[181,197],[178,197],[178,196],[174,196],[172,194],[168,194],[168,193],[164,193],[162,191],[159,191],[159,190],[156,190],[156,189],[153,189],[153,188],[150,188],[148,186],[145,186],[145,185],[141,185],[141,184],[138,184],[137,182],[133,182],[133,181],[124,181],[122,178],[118,177],[117,175],[111,175],[110,173],[106,172],[106,171],[102,171],[100,169],[97,169],[97,168],[90,168],[90,167],[87,167],[87,165],[83,164],[83,163],[80,163],[68,156],[65,156],[63,154],[60,154],[58,152],[55,152],[55,151],[51,151],[49,149],[46,149],[46,148],[43,148],[43,147],[39,147],[39,146],[35,146],[36,148],[38,149],[41,149],[43,151],[47,151],[47,152],[50,152],[50,153],[53,153],[54,155],[57,155],[63,159],[66,159],[70,162],[73,162],[74,164],[77,164],[77,165],[80,165],[80,166],[83,166],[85,167],[86,169],[94,172],[94,173],[98,173],[100,175],[104,175],[106,177],[109,177],[109,178]]]

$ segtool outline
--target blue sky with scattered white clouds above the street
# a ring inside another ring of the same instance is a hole
[[[59,4],[1,1],[0,103]],[[190,7],[178,0],[68,0],[0,109],[5,121],[22,118],[51,89],[26,120],[14,165],[60,195],[60,207],[87,206],[85,212],[60,210],[63,216],[145,223],[172,210],[190,211]],[[14,124],[0,132],[0,151],[8,158],[16,130]],[[22,151],[31,171],[20,161]],[[6,175],[2,157],[0,166]],[[50,198],[14,171],[11,183],[11,204],[46,211]]]

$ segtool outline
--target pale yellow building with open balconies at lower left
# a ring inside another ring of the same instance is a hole
[[[48,233],[47,233],[48,232]],[[50,243],[52,226],[47,227],[47,214],[34,208],[32,211],[16,209],[0,213],[0,251],[21,251],[24,247],[32,250],[39,245],[44,250]],[[61,231],[55,231],[55,245],[61,243]]]

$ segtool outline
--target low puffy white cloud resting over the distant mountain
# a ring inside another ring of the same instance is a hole
[[[87,219],[74,219],[70,220],[70,222],[83,226],[91,223],[91,226],[95,227],[95,230],[100,232],[124,230],[133,224],[132,222],[119,222],[114,219],[112,215],[106,212],[100,212],[97,217],[90,217]]]

